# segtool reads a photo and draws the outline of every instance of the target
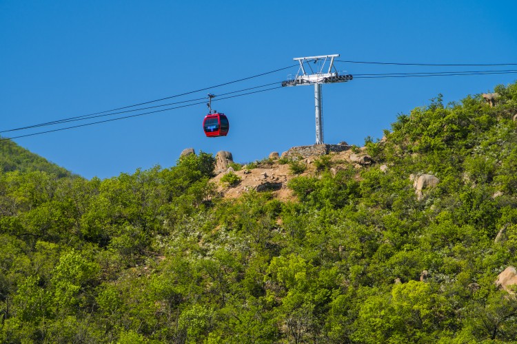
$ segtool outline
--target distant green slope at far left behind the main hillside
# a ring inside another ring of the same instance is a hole
[[[0,171],[45,171],[53,173],[59,178],[72,175],[70,171],[63,169],[63,167],[48,162],[45,158],[31,153],[10,140],[0,141]]]

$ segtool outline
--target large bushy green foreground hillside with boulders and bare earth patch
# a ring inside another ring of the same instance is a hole
[[[514,342],[517,84],[494,91],[219,175],[0,173],[0,341]]]

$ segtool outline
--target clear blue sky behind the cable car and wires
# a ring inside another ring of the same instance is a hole
[[[269,72],[294,64],[292,58],[298,56],[516,63],[516,13],[516,1],[2,0],[0,131]],[[496,69],[336,67],[349,74]],[[280,83],[296,70],[210,92]],[[449,102],[515,80],[517,74],[324,85],[325,142],[361,145],[366,136],[381,138],[398,114],[428,104],[438,93]],[[201,98],[207,92],[170,101]],[[187,147],[214,154],[231,151],[236,162],[250,162],[271,151],[314,143],[313,95],[310,86],[284,87],[214,103],[230,118],[226,138],[205,138],[201,122],[207,109],[196,105],[15,142],[85,178],[172,166]]]

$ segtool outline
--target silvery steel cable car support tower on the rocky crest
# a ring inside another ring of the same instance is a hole
[[[287,78],[282,82],[282,86],[314,85],[314,108],[316,112],[316,144],[323,144],[323,96],[321,85],[324,83],[345,83],[352,80],[350,74],[340,74],[334,67],[334,58],[339,54],[296,57],[294,61],[300,63],[298,72],[294,78]],[[318,63],[315,69],[309,64]],[[328,69],[323,70],[328,62]],[[310,69],[311,74],[307,74],[306,68]],[[334,69],[334,72],[332,70]]]

